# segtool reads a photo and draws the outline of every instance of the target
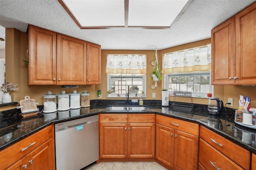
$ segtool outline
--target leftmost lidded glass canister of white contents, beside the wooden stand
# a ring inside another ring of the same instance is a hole
[[[52,113],[57,111],[56,96],[52,91],[48,91],[44,97],[44,113]]]

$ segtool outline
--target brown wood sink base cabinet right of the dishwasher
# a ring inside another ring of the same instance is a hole
[[[154,114],[100,114],[100,158],[154,158]]]

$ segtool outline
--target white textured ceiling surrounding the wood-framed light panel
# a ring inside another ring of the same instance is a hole
[[[32,24],[100,44],[102,49],[165,49],[210,38],[212,28],[255,1],[193,0],[166,30],[81,30],[58,0],[0,0],[0,25],[26,32],[27,24]]]

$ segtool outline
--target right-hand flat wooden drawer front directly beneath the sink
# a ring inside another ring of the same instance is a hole
[[[128,114],[128,123],[154,123],[155,114]]]

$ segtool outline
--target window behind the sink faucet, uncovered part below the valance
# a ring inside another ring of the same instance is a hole
[[[146,83],[145,74],[113,74],[108,73],[108,89],[111,89],[111,97],[125,97],[125,94],[129,93],[130,97],[138,97],[145,93]]]

